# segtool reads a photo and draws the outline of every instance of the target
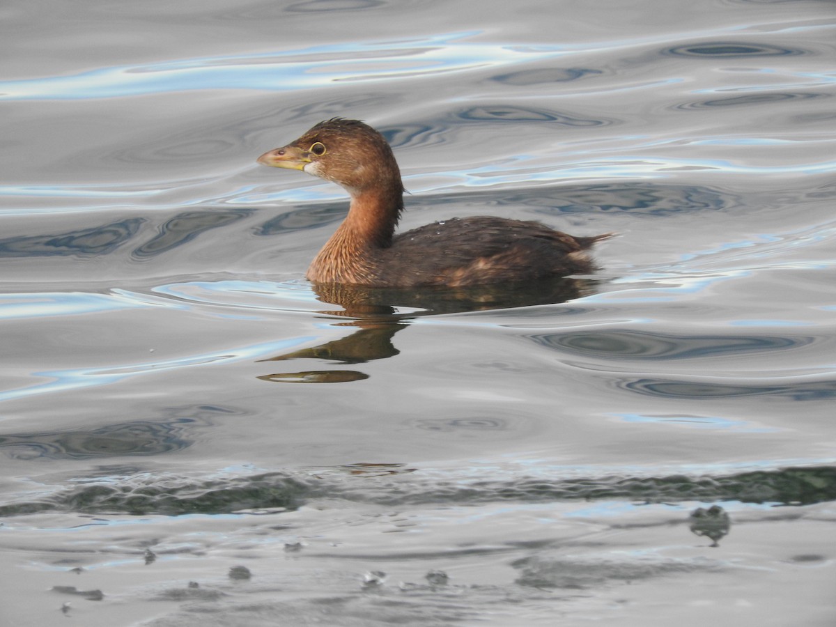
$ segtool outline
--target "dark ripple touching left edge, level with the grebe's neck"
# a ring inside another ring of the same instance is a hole
[[[137,217],[51,235],[7,237],[0,239],[0,257],[106,255],[134,237],[143,222]]]

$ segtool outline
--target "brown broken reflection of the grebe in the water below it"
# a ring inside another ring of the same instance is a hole
[[[260,361],[324,359],[339,364],[364,364],[375,359],[387,359],[399,353],[392,338],[416,317],[565,303],[593,293],[594,281],[552,278],[468,288],[370,288],[314,283],[313,288],[320,302],[342,308],[323,310],[320,314],[349,319],[334,326],[356,327],[357,330],[344,338]],[[404,312],[403,309],[409,311]],[[276,383],[344,383],[368,378],[369,375],[359,370],[303,370],[258,377]]]

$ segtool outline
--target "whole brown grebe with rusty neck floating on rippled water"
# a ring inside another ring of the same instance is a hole
[[[359,120],[320,122],[258,162],[334,181],[351,195],[349,215],[308,268],[314,283],[462,287],[564,277],[592,272],[587,251],[609,237],[572,237],[539,222],[487,216],[395,236],[404,208],[400,169],[383,135]]]

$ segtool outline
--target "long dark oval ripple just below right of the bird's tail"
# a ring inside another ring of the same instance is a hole
[[[530,338],[548,348],[598,359],[695,359],[793,349],[816,341],[808,336],[685,336],[642,331],[589,331],[532,335]]]

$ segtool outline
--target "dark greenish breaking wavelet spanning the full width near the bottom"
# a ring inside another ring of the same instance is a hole
[[[222,514],[265,508],[295,509],[315,498],[403,506],[428,503],[551,502],[629,500],[631,502],[725,502],[809,505],[836,500],[836,466],[743,472],[721,477],[573,477],[553,480],[519,477],[512,481],[434,480],[421,472],[391,476],[355,474],[356,481],[317,474],[269,472],[252,477],[200,481],[141,473],[99,481],[85,477],[52,497],[0,506],[0,516],[70,511],[113,514]],[[77,480],[78,481],[78,480]]]

